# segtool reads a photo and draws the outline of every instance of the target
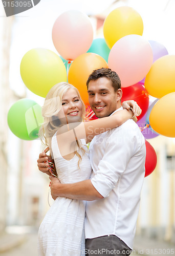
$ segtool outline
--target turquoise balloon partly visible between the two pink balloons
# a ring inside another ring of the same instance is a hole
[[[93,43],[88,52],[97,53],[98,55],[103,57],[103,59],[105,59],[105,61],[107,62],[110,53],[110,48],[108,48],[108,46],[106,45],[104,38],[96,38],[93,40]]]

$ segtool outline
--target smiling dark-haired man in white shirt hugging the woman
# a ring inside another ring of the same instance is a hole
[[[105,68],[95,70],[86,84],[90,106],[98,118],[122,109],[121,82],[116,72]],[[85,237],[89,255],[129,255],[133,249],[145,173],[144,137],[138,125],[128,120],[95,136],[89,152],[93,168],[91,179],[60,184],[57,178],[50,177],[52,197],[88,201]],[[44,160],[46,158],[38,159],[42,172]]]

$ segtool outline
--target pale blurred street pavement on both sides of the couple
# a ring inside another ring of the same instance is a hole
[[[175,246],[172,243],[136,236],[134,250],[130,255],[174,255],[174,252]],[[0,254],[1,256],[37,256],[37,230],[0,237]]]

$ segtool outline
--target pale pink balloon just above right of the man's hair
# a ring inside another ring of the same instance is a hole
[[[146,39],[140,35],[126,35],[111,49],[108,66],[119,75],[122,87],[128,87],[145,77],[152,59],[152,50]]]

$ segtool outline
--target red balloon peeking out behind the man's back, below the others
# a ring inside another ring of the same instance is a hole
[[[156,155],[156,151],[154,150],[154,147],[152,147],[147,140],[145,140],[145,145],[146,145],[145,177],[147,177],[156,168],[157,155]]]

